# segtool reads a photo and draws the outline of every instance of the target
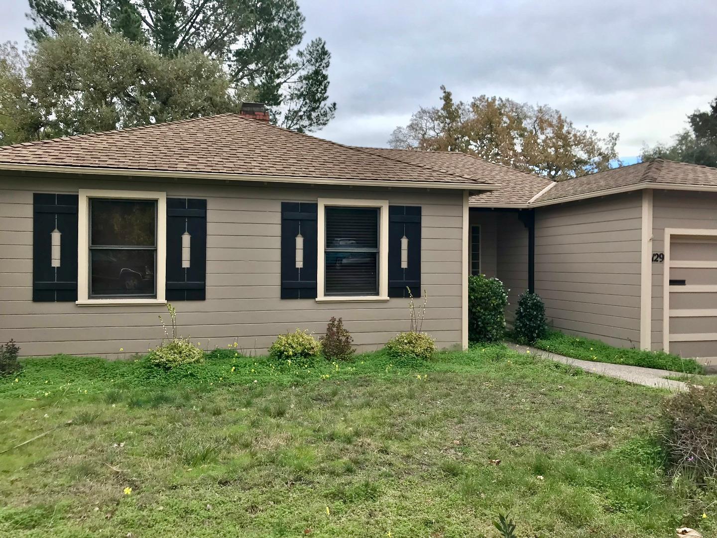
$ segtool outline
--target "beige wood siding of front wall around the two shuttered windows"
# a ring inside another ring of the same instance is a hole
[[[388,199],[422,207],[424,331],[442,347],[460,345],[462,204],[459,191],[329,189],[207,181],[0,177],[0,341],[15,339],[23,355],[144,352],[161,339],[163,306],[77,306],[32,302],[32,193],[87,189],[166,190],[207,199],[206,301],[175,303],[181,334],[202,346],[233,344],[263,353],[275,335],[297,328],[320,334],[343,317],[361,350],[377,349],[409,328],[408,301],[316,303],[281,300],[280,205],[318,197]],[[166,317],[166,316],[165,316]]]

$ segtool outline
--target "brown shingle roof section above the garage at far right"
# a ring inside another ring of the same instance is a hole
[[[561,199],[580,195],[599,196],[604,191],[640,184],[650,184],[655,187],[659,187],[660,184],[717,187],[717,169],[665,159],[652,159],[560,181],[549,191],[541,194],[535,203],[559,202]]]

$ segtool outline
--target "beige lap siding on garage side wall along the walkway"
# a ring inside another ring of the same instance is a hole
[[[536,292],[556,329],[640,344],[641,198],[536,209]]]

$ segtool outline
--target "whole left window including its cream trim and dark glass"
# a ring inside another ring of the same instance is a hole
[[[78,304],[164,302],[166,194],[80,189]]]

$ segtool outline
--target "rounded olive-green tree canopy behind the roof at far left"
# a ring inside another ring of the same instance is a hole
[[[239,110],[222,64],[161,57],[100,25],[60,29],[21,53],[0,47],[0,144],[109,131]]]

